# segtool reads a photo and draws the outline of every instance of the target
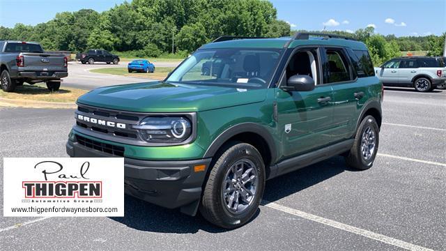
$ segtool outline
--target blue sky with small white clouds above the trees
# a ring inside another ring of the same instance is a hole
[[[63,11],[108,10],[124,0],[0,0],[0,26],[35,25]],[[179,0],[178,0],[179,1]],[[353,32],[374,26],[396,36],[440,35],[446,31],[446,0],[270,0],[291,29]]]

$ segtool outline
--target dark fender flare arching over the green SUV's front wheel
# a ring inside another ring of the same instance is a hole
[[[275,141],[272,138],[272,135],[264,126],[260,126],[257,123],[246,122],[240,123],[236,126],[231,126],[230,128],[224,130],[218,137],[214,139],[214,141],[210,144],[206,153],[204,153],[203,158],[212,158],[215,153],[217,153],[218,149],[223,146],[231,137],[238,135],[243,132],[251,132],[259,135],[262,139],[267,143],[267,149],[271,155],[271,162],[274,163],[277,158],[277,153],[275,151]]]

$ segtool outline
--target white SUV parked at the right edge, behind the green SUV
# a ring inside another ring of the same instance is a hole
[[[413,87],[426,92],[446,88],[446,68],[443,58],[404,56],[391,59],[375,68],[376,77],[384,86]]]

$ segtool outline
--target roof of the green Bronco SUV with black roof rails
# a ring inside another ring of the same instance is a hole
[[[288,46],[287,43],[289,43]],[[367,50],[366,45],[356,40],[347,40],[344,38],[312,38],[309,39],[293,39],[288,38],[252,38],[252,39],[236,39],[226,40],[222,42],[208,43],[200,47],[200,49],[217,49],[217,48],[276,48],[282,49],[298,47],[299,45],[328,45],[351,47],[356,50]]]

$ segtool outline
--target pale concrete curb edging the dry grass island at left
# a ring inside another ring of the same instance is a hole
[[[75,109],[77,105],[74,102],[47,102],[39,100],[23,100],[0,98],[0,106],[6,107],[26,107],[26,108],[56,108],[56,109]]]

